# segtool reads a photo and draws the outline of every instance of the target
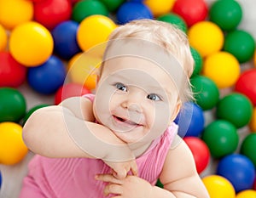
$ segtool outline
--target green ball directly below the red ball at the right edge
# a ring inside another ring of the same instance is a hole
[[[253,116],[251,101],[241,93],[230,93],[220,99],[216,107],[218,119],[224,119],[236,127],[244,127]]]

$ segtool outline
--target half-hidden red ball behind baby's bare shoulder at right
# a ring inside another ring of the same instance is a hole
[[[203,172],[209,164],[211,156],[207,144],[197,137],[185,137],[183,140],[194,156],[197,173]]]

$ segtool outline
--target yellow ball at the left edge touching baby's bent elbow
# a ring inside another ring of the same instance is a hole
[[[22,127],[15,122],[0,123],[0,163],[13,165],[20,162],[27,153],[22,140]]]

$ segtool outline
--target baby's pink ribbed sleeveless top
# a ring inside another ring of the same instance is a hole
[[[177,125],[172,123],[142,156],[137,157],[138,176],[154,185],[162,171]],[[101,198],[106,185],[96,181],[97,173],[111,173],[102,160],[89,158],[47,158],[34,156],[29,163],[29,178],[46,197]]]

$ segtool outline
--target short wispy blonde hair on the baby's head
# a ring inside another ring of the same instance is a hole
[[[194,70],[194,59],[190,52],[189,40],[183,31],[175,25],[159,20],[132,20],[120,25],[109,36],[109,40],[120,38],[143,39],[165,48],[177,59],[185,74],[184,90],[179,92],[181,101],[193,99],[189,77]]]

